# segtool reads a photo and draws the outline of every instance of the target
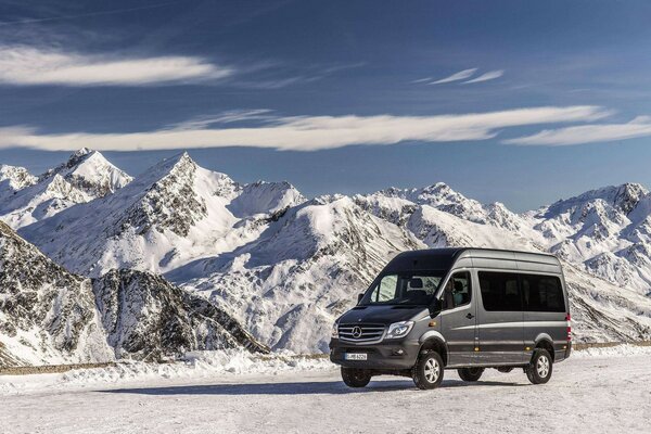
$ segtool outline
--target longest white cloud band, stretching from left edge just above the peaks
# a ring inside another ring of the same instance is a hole
[[[173,127],[131,133],[39,133],[35,128],[0,128],[0,148],[50,151],[92,146],[97,150],[135,151],[180,148],[252,146],[318,151],[352,144],[394,144],[407,140],[447,142],[485,140],[501,128],[523,125],[595,120],[609,111],[592,105],[515,108],[489,113],[437,116],[298,116],[277,117],[256,127],[208,129]]]

